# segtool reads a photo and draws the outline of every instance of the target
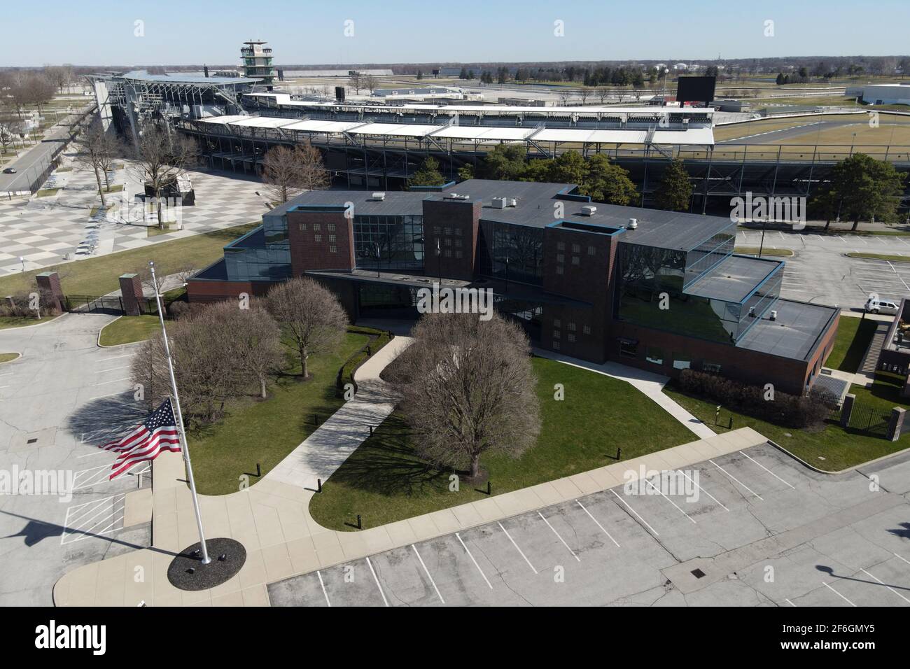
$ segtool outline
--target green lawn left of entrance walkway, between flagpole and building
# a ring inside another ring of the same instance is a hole
[[[314,413],[322,422],[344,403],[335,395],[335,376],[367,341],[368,335],[349,332],[338,353],[309,360],[308,380],[281,377],[270,385],[268,400],[250,399],[229,410],[217,425],[189,431],[198,491],[207,495],[237,492],[243,474],[252,474],[251,485],[258,481],[257,462],[265,474],[297,448],[316,429]],[[298,371],[299,365],[288,370]]]

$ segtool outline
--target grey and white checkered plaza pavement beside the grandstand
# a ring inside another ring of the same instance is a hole
[[[42,189],[59,188],[54,195],[27,201],[0,201],[0,276],[41,269],[67,259],[77,260],[139,248],[168,239],[242,225],[260,220],[266,212],[262,184],[255,181],[191,171],[196,204],[181,208],[183,230],[148,237],[143,225],[126,224],[121,217],[123,196],[106,196],[108,210],[99,210],[95,174],[73,164],[57,170]],[[112,185],[141,193],[134,171],[119,166],[109,175]],[[93,215],[94,210],[94,215]],[[128,217],[127,217],[128,218]]]

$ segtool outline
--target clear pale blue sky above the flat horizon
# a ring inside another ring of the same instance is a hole
[[[444,6],[441,6],[444,5]],[[42,0],[3,16],[0,66],[885,56],[910,51],[910,2],[882,0]],[[23,11],[19,11],[22,9]],[[773,36],[764,36],[765,21]],[[142,21],[143,36],[136,36]],[[345,22],[353,36],[345,36]],[[562,21],[564,36],[554,33]],[[350,24],[349,24],[350,25]]]

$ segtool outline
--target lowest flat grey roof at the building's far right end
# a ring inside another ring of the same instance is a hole
[[[771,311],[777,319],[771,320]],[[736,342],[737,349],[757,350],[790,360],[805,360],[837,316],[836,307],[778,299]]]

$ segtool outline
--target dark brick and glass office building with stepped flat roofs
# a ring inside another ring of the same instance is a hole
[[[784,261],[734,255],[735,233],[728,218],[591,205],[570,184],[314,191],[268,212],[187,292],[261,295],[305,275],[359,319],[417,318],[418,290],[434,282],[491,289],[542,349],[801,392],[833,347],[838,309],[781,299]]]

